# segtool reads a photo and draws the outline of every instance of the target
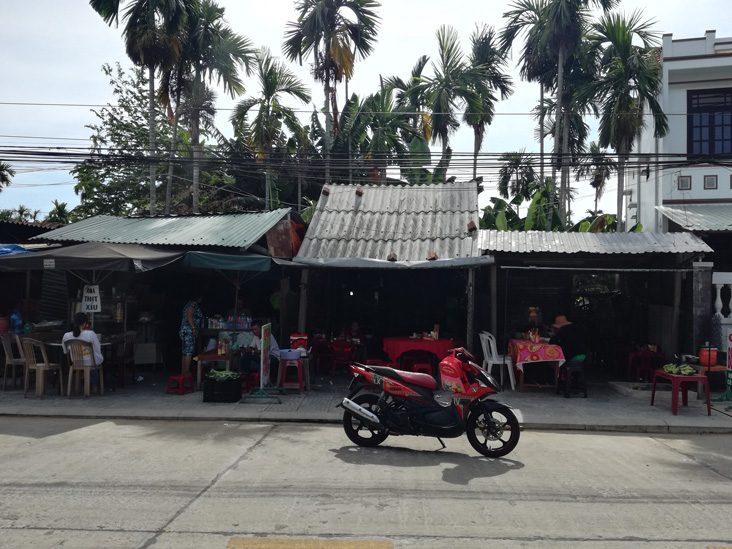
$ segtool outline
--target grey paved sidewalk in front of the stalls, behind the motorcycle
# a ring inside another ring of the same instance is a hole
[[[0,415],[81,417],[96,419],[178,419],[262,422],[339,423],[342,409],[336,408],[346,395],[350,378],[339,373],[335,378],[317,376],[312,390],[303,395],[289,391],[275,400],[246,400],[241,403],[203,402],[201,392],[186,395],[165,392],[168,373],[142,372],[143,381],[103,396],[60,397],[49,387],[46,396],[36,398],[22,389],[8,386],[0,392]],[[526,429],[625,431],[646,433],[732,433],[732,402],[706,403],[689,393],[689,406],[681,405],[678,415],[671,413],[671,392],[657,389],[654,406],[650,391],[629,390],[622,384],[590,382],[589,398],[573,394],[556,395],[549,389],[525,392],[504,391],[497,400],[518,410]],[[719,394],[712,394],[712,398]]]

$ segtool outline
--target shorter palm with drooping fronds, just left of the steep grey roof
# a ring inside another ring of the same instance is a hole
[[[241,101],[231,115],[234,126],[246,126],[251,142],[258,156],[265,162],[265,209],[270,209],[272,184],[272,153],[275,143],[282,138],[283,125],[291,133],[299,133],[300,121],[290,107],[282,104],[284,96],[291,96],[303,103],[310,101],[310,91],[285,65],[272,58],[269,50],[263,48],[256,56],[256,76],[260,84],[260,95]],[[256,114],[247,125],[247,116],[256,109]]]

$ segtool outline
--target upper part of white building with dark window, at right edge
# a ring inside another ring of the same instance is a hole
[[[669,132],[647,123],[629,165],[627,226],[644,231],[732,230],[732,37],[663,36],[660,103]],[[649,120],[650,121],[650,120]],[[717,162],[721,162],[720,165]],[[678,225],[678,227],[677,227]]]

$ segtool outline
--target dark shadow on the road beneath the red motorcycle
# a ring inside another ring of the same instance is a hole
[[[435,441],[436,442],[436,441]],[[445,450],[413,450],[398,446],[362,448],[343,446],[332,449],[335,456],[352,465],[379,465],[381,467],[434,467],[447,465],[442,471],[442,480],[450,484],[465,486],[476,478],[490,478],[523,469],[524,464],[513,459],[489,459],[471,457]],[[453,467],[449,467],[453,465]]]

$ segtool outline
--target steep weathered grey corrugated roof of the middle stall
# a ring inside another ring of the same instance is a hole
[[[397,261],[477,257],[475,182],[436,185],[328,185],[296,260]],[[361,189],[362,196],[356,191]]]

